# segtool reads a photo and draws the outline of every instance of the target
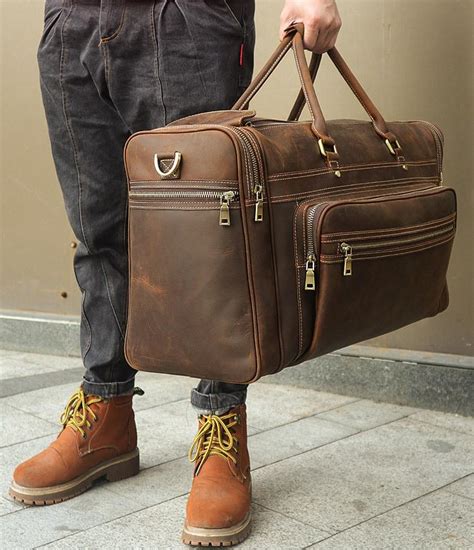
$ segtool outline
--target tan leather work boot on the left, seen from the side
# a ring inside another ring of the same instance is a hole
[[[136,393],[143,391],[137,388]],[[100,477],[117,481],[137,474],[132,399],[105,399],[79,389],[61,415],[57,439],[17,466],[10,495],[25,504],[54,504],[83,493]]]

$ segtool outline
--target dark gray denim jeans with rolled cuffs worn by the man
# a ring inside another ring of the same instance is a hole
[[[254,0],[46,0],[38,50],[52,152],[78,241],[83,388],[129,392],[127,187],[132,132],[227,109],[248,85]],[[47,220],[45,220],[47,221]],[[246,386],[202,380],[191,401],[222,412]]]

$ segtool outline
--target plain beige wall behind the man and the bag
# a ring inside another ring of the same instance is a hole
[[[276,44],[282,2],[256,2],[259,67]],[[73,235],[50,158],[36,68],[43,2],[0,0],[0,4],[0,305],[8,310],[74,315],[79,295],[71,269]],[[340,0],[339,7],[344,20],[340,50],[385,117],[421,118],[443,128],[445,181],[459,197],[459,230],[449,273],[450,308],[375,344],[471,355],[473,1]],[[317,89],[327,118],[364,116],[328,59]],[[284,116],[296,91],[297,77],[288,59],[255,106],[260,115]]]

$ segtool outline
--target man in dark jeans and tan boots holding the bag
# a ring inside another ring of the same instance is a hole
[[[126,180],[131,133],[196,112],[228,109],[249,84],[254,0],[46,0],[38,61],[53,156],[78,241],[85,375],[63,430],[14,472],[27,504],[71,498],[99,477],[138,473],[135,371],[123,354],[127,302]],[[280,34],[305,27],[322,53],[341,22],[334,0],[286,0]],[[250,526],[245,385],[201,380],[199,430],[183,541],[228,545]]]

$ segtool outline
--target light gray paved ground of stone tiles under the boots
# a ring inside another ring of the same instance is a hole
[[[5,549],[181,549],[196,430],[192,379],[139,373],[141,472],[61,504],[7,495],[15,465],[58,432],[78,359],[1,352]],[[252,534],[239,549],[474,548],[474,419],[296,388],[248,396]]]

